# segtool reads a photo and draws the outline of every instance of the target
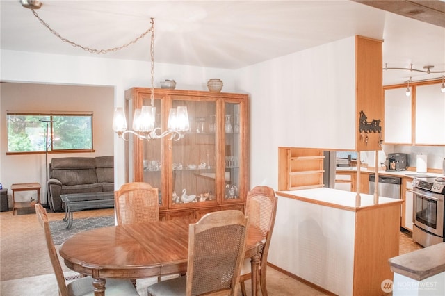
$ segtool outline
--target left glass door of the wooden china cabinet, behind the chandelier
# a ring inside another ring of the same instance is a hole
[[[149,94],[143,99],[144,106],[150,106],[151,101]],[[163,122],[161,122],[161,99],[154,99],[154,106],[156,107],[156,121],[155,127],[161,128]],[[162,145],[164,139],[143,140],[143,181],[149,183],[152,187],[158,188],[159,191],[159,206],[166,206],[162,202],[163,196],[163,182],[162,182]]]

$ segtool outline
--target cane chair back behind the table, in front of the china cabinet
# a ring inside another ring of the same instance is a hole
[[[122,185],[114,193],[114,202],[119,225],[159,221],[158,188],[149,183]]]

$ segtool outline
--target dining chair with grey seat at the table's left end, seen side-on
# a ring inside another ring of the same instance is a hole
[[[92,286],[92,277],[81,277],[70,283],[65,282],[62,266],[57,256],[56,247],[54,247],[47,210],[41,204],[35,204],[35,213],[37,219],[44,229],[44,236],[47,240],[49,259],[53,265],[54,274],[58,285],[58,294],[60,296],[74,295],[94,295]],[[139,295],[133,283],[127,279],[106,279],[106,295]]]

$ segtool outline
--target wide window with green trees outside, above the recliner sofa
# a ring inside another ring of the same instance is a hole
[[[8,113],[8,153],[92,150],[92,113]]]

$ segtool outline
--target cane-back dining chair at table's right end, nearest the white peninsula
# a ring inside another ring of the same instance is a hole
[[[275,191],[268,186],[256,186],[248,192],[245,202],[245,215],[250,217],[250,227],[259,229],[265,240],[261,249],[261,258],[259,263],[259,283],[261,286],[261,294],[267,294],[266,288],[266,271],[267,256],[270,246],[270,238],[272,238],[273,226],[275,224],[275,216],[277,214],[278,198]],[[252,279],[250,259],[245,259],[243,268],[241,269],[240,284],[241,293],[245,293],[244,281]]]

